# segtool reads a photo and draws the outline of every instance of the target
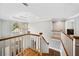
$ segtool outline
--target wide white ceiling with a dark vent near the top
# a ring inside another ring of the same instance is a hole
[[[79,13],[79,3],[0,3],[0,18],[23,22],[61,20]]]

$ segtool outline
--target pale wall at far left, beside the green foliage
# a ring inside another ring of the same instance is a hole
[[[11,24],[13,22],[9,22],[6,20],[0,20],[0,36],[7,36],[11,32]]]

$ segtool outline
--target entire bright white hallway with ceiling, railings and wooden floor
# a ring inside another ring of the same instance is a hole
[[[0,56],[77,56],[78,50],[79,3],[0,3]]]

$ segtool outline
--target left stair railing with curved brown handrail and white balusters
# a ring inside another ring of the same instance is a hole
[[[0,56],[22,56],[27,48],[42,52],[42,40],[48,45],[44,37],[38,34],[30,33],[0,38]]]

